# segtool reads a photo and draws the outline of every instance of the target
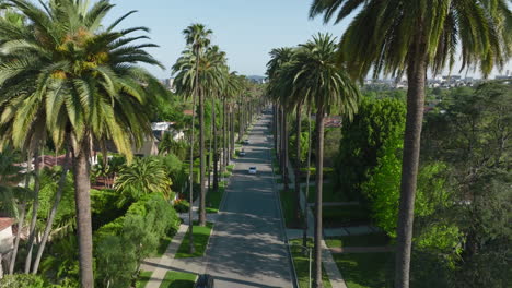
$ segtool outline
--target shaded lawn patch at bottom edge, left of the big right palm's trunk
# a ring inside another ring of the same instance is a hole
[[[388,287],[393,280],[394,253],[333,255],[348,288]]]

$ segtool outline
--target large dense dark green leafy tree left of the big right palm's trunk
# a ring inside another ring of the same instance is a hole
[[[353,120],[344,120],[339,156],[335,165],[338,177],[334,179],[341,193],[351,199],[361,199],[361,185],[376,167],[384,143],[394,141],[399,145],[405,129],[405,113],[406,107],[400,100],[364,97]],[[393,153],[394,148],[400,146],[391,147],[389,152]]]

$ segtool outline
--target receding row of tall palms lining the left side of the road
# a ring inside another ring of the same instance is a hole
[[[193,121],[190,132],[190,167],[189,167],[189,202],[193,203],[193,185],[194,185],[194,143],[195,143],[195,118],[196,118],[196,101],[198,101],[197,110],[199,115],[199,226],[206,225],[206,177],[210,183],[210,167],[213,167],[213,188],[212,191],[219,190],[219,176],[225,171],[226,166],[234,155],[235,149],[235,107],[238,108],[238,137],[241,137],[247,124],[253,118],[252,112],[257,108],[255,94],[247,92],[248,83],[244,76],[236,75],[236,72],[231,72],[226,64],[225,52],[220,50],[219,46],[211,45],[211,29],[208,29],[203,24],[191,24],[183,31],[187,47],[182,52],[173,65],[175,74],[176,92],[185,97],[193,98]],[[206,121],[205,121],[205,105],[207,99],[211,100],[211,128],[210,128],[210,144],[207,152],[206,148]],[[217,107],[220,103],[221,107],[221,140],[222,140],[222,158],[219,159],[218,134],[217,127]],[[206,156],[208,157],[208,164]],[[212,157],[211,157],[212,156]],[[213,164],[211,164],[213,160]],[[220,171],[219,171],[220,161]],[[208,168],[207,168],[208,167]],[[208,169],[208,170],[207,170]],[[207,176],[208,172],[208,176]],[[210,184],[208,185],[210,188]],[[189,209],[189,237],[190,237],[190,253],[194,251],[193,243],[193,209]]]

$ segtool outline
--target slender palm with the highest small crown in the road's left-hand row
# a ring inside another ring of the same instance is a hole
[[[213,32],[208,29],[202,24],[191,24],[183,31],[187,45],[191,47],[193,53],[196,57],[196,74],[194,94],[199,100],[199,184],[200,184],[200,199],[199,199],[199,225],[206,225],[206,152],[205,152],[205,88],[200,83],[200,63],[201,58],[206,53],[206,48],[210,45],[210,36]],[[190,203],[191,204],[191,203]]]

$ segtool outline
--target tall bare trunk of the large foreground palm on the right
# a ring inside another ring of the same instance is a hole
[[[400,204],[397,225],[397,251],[395,287],[409,287],[410,251],[412,241],[412,223],[415,218],[415,194],[418,178],[421,125],[424,109],[424,84],[427,79],[427,57],[421,57],[417,45],[407,69],[407,116],[404,135],[404,156],[402,159]]]

